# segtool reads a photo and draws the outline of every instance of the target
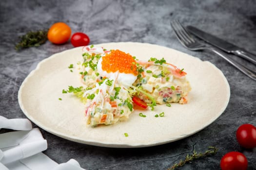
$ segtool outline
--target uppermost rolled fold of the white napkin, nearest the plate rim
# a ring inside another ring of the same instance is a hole
[[[28,119],[6,119],[0,116],[1,128],[28,131],[32,129],[32,125]]]

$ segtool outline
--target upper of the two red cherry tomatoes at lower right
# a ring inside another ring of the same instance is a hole
[[[247,149],[256,147],[256,127],[251,124],[243,124],[236,130],[238,143]]]

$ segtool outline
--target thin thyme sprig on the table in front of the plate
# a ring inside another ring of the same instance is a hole
[[[182,167],[188,162],[191,162],[193,160],[207,157],[213,154],[216,154],[218,149],[216,147],[210,146],[208,147],[209,150],[205,151],[205,153],[197,153],[196,151],[193,151],[193,154],[189,155],[187,154],[186,158],[184,160],[180,160],[179,163],[174,164],[171,168],[168,168],[168,170],[174,170],[175,168]]]

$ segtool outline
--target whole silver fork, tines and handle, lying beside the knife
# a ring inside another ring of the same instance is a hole
[[[250,68],[246,68],[243,64],[239,64],[236,61],[230,59],[227,55],[225,55],[222,51],[212,47],[212,46],[206,46],[205,44],[197,41],[194,39],[190,34],[186,31],[186,29],[179,23],[179,21],[171,21],[171,26],[177,36],[177,39],[179,42],[186,47],[187,49],[191,51],[202,51],[202,50],[210,50],[215,53],[217,53],[219,56],[221,56],[223,59],[228,61],[230,64],[232,64],[234,67],[239,69],[241,72],[252,78],[256,81],[256,71],[252,70]]]

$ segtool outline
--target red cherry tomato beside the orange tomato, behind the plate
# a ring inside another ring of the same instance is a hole
[[[87,46],[90,43],[90,38],[83,33],[75,33],[71,37],[71,43],[74,47]]]

